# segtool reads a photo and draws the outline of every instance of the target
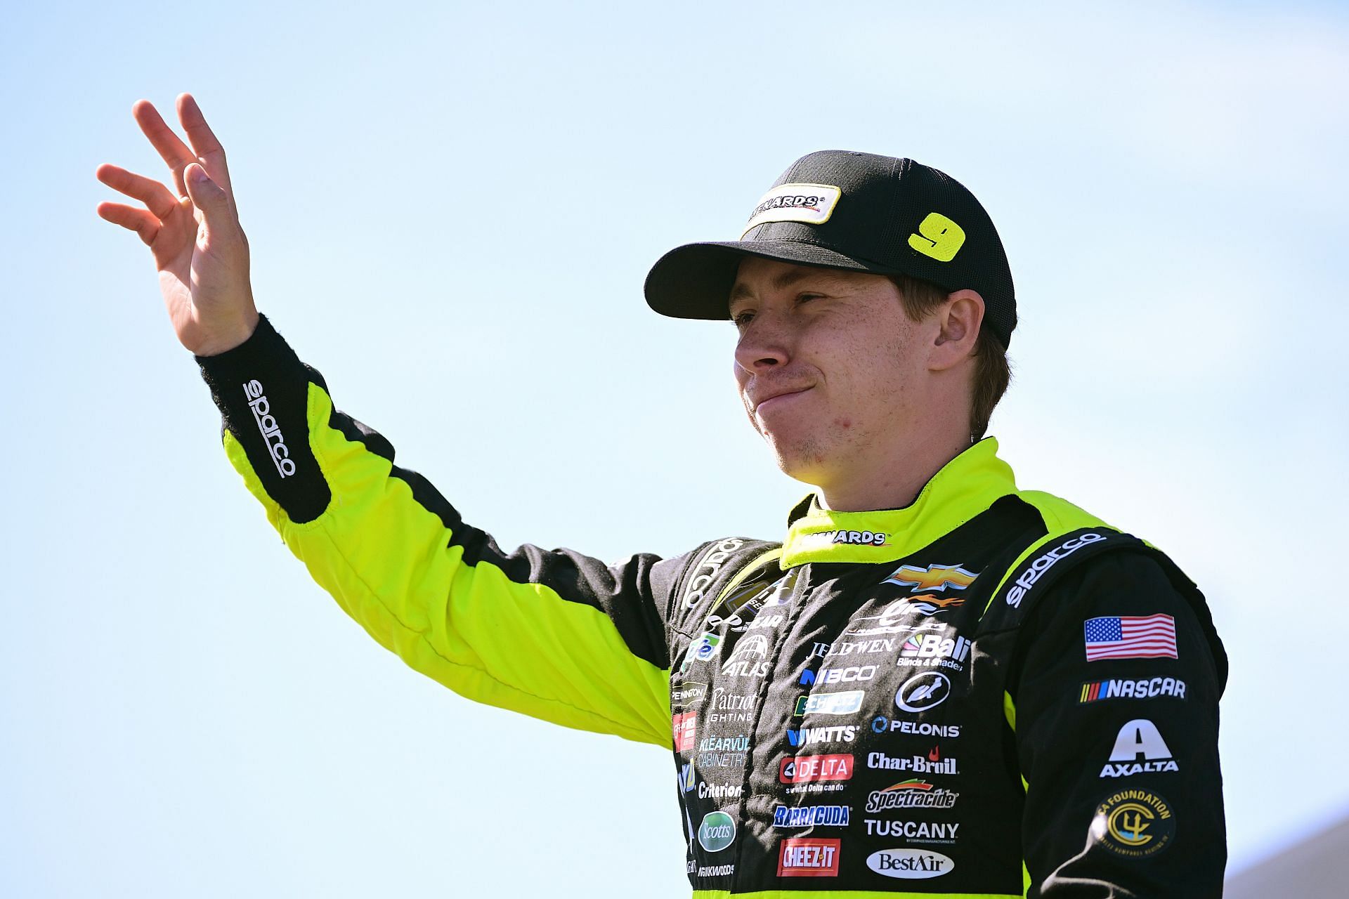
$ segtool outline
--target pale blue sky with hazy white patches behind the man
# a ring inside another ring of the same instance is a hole
[[[505,546],[772,538],[804,488],[650,263],[793,159],[966,183],[1023,487],[1168,550],[1232,656],[1230,869],[1349,811],[1340,4],[18,4],[0,27],[0,895],[684,896],[666,753],[475,706],[306,577],[148,251],[94,216],[192,90],[259,307]]]

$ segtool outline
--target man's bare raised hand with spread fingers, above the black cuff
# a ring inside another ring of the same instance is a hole
[[[98,181],[144,206],[103,202],[98,216],[136,232],[150,247],[179,342],[198,356],[223,353],[258,326],[248,239],[239,226],[225,151],[192,94],[178,97],[178,121],[190,147],[148,101],[138,101],[132,115],[169,164],[177,193],[152,178],[103,164]]]

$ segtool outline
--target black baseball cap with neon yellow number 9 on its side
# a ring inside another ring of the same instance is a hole
[[[646,303],[674,318],[728,318],[745,256],[975,290],[983,326],[1004,346],[1016,328],[1012,271],[989,213],[960,182],[912,159],[847,150],[801,156],[754,206],[739,240],[661,256],[646,275]]]

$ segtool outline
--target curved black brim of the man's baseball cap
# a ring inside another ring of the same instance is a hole
[[[646,275],[646,305],[672,318],[730,318],[727,299],[746,256],[878,275],[893,268],[803,240],[726,240],[684,244],[661,256]]]

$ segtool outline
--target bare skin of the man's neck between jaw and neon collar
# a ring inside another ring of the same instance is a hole
[[[820,507],[835,512],[904,508],[969,446],[969,437],[942,435],[885,447],[892,452],[877,453],[877,458],[851,460],[836,478],[817,485]]]

